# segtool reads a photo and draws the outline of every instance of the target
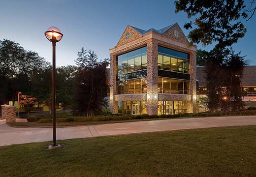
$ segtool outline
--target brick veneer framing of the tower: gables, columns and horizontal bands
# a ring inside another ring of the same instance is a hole
[[[175,24],[176,25],[176,24]],[[174,28],[174,29],[173,29]],[[168,38],[173,38],[173,31],[175,29],[180,30],[180,35],[176,38],[176,41],[181,41],[183,44],[187,44],[186,47],[180,47],[174,44],[170,44],[168,42],[163,42],[161,40],[155,38],[147,38],[147,40],[143,42],[135,41],[128,43],[128,41],[124,38],[127,31],[125,31],[122,35],[122,40],[118,45],[120,45],[121,49],[118,51],[113,50],[110,54],[110,96],[112,99],[110,100],[110,107],[113,113],[118,112],[118,101],[147,101],[147,114],[157,114],[158,113],[158,100],[160,101],[188,101],[188,112],[196,112],[196,99],[193,99],[193,95],[196,95],[196,51],[190,50],[190,44],[187,41],[187,38],[184,38],[184,34],[179,28],[179,26],[174,26],[172,32],[166,31],[162,36],[166,36]],[[128,28],[127,28],[128,29]],[[129,29],[128,29],[129,30]],[[130,30],[129,32],[133,31]],[[171,30],[170,30],[171,31]],[[182,33],[181,33],[182,32]],[[140,38],[139,35],[136,34],[134,39]],[[142,37],[143,38],[143,37]],[[186,39],[186,40],[185,40]],[[123,41],[124,40],[124,41]],[[138,39],[140,40],[140,39]],[[123,41],[123,42],[121,42]],[[126,44],[128,43],[128,44]],[[121,45],[122,44],[122,45]],[[123,45],[124,44],[124,45]],[[158,95],[158,99],[148,99],[145,94],[141,94],[138,96],[137,94],[131,95],[116,95],[117,94],[117,86],[116,86],[116,56],[121,55],[123,53],[129,52],[139,47],[143,47],[147,45],[147,94],[156,94]],[[158,45],[162,45],[174,50],[179,50],[182,52],[186,52],[190,54],[190,95],[174,95],[174,94],[158,94]],[[124,46],[124,47],[123,47]],[[186,46],[186,45],[183,45]],[[146,98],[145,98],[146,96]]]

